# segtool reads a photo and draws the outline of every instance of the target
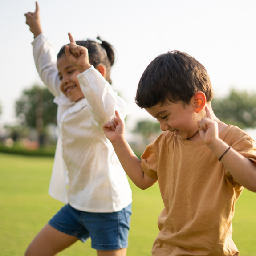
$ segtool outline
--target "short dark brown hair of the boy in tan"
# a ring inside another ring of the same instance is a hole
[[[187,53],[172,51],[159,55],[147,66],[138,83],[135,102],[141,108],[163,104],[167,99],[188,104],[198,91],[211,102],[213,89],[206,69]]]

